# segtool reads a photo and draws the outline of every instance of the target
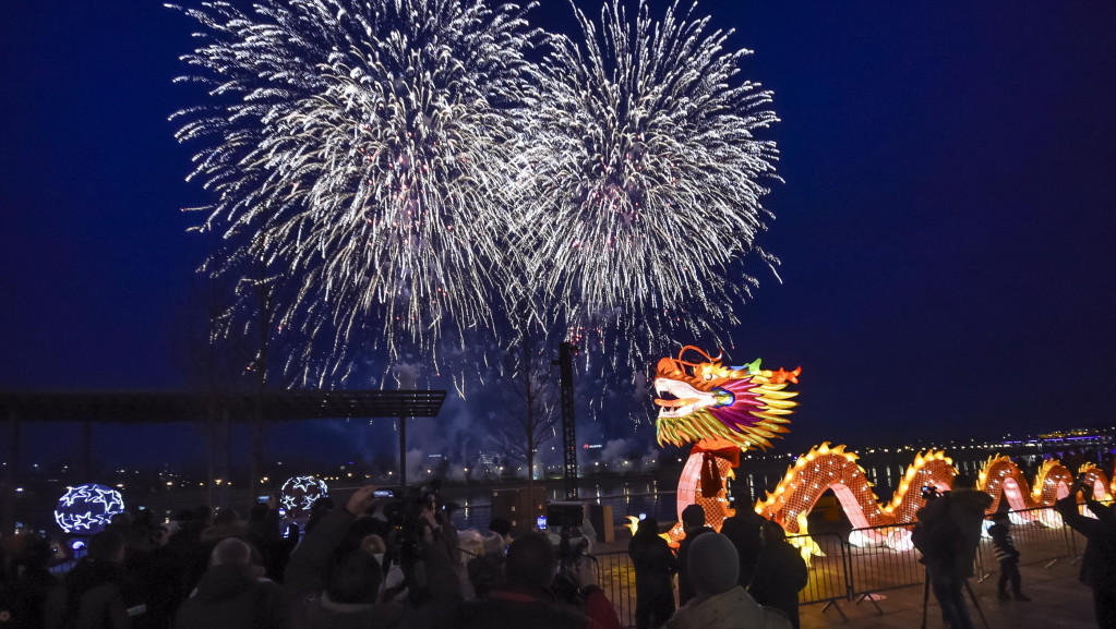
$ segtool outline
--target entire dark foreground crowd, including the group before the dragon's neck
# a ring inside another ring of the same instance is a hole
[[[0,629],[620,628],[580,551],[567,557],[568,544],[543,533],[512,539],[499,519],[464,551],[436,493],[374,493],[319,500],[301,534],[275,501],[247,521],[208,507],[166,524],[147,511],[118,514],[76,562],[66,544],[10,538],[0,544]],[[722,535],[698,505],[683,521],[677,555],[653,519],[631,541],[638,629],[797,626],[805,564],[780,528],[743,514]],[[68,570],[51,570],[60,563]]]

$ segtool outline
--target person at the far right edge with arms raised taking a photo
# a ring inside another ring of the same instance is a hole
[[[1078,511],[1077,493],[1081,492],[1085,505],[1097,517]],[[1113,507],[1100,504],[1093,496],[1093,487],[1078,478],[1069,495],[1055,503],[1067,526],[1085,535],[1085,553],[1078,579],[1093,589],[1093,606],[1097,627],[1116,629],[1116,514]]]

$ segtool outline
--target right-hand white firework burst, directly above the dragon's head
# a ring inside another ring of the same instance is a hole
[[[777,118],[739,77],[750,51],[727,51],[731,31],[693,9],[656,21],[641,1],[631,23],[613,0],[599,32],[575,12],[584,48],[558,37],[541,69],[522,249],[558,321],[638,365],[672,335],[735,322],[747,253],[777,263],[753,244],[771,217],[763,181],[778,181],[775,143],[753,134]]]

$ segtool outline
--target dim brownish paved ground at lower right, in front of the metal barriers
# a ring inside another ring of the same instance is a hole
[[[1031,602],[1001,602],[995,597],[993,573],[984,582],[971,580],[973,592],[984,611],[990,629],[1047,629],[1056,627],[1096,627],[1093,613],[1093,593],[1077,580],[1079,565],[1058,561],[1050,568],[1042,563],[1023,564],[1023,592]],[[841,629],[917,629],[922,626],[923,588],[898,588],[878,594],[881,600],[853,603],[840,601],[840,611],[821,604],[799,608],[802,629],[833,627]],[[968,599],[968,597],[966,597]],[[969,612],[975,629],[982,629],[980,616],[969,601]],[[877,609],[878,606],[878,609]],[[841,618],[841,612],[846,619]],[[883,613],[881,613],[883,612]],[[941,629],[942,615],[933,594],[926,606],[926,628]]]

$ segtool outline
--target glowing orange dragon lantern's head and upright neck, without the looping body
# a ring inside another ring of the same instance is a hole
[[[702,360],[684,360],[687,352]],[[797,391],[786,390],[798,383],[801,367],[793,371],[760,368],[760,360],[729,367],[720,357],[686,346],[677,358],[663,358],[655,374],[655,404],[658,405],[656,432],[658,444],[682,446],[693,443],[690,458],[679,480],[680,524],[671,531],[672,540],[682,538],[682,510],[700,504],[705,521],[720,531],[721,522],[732,515],[725,483],[740,463],[740,453],[768,448],[770,439],[786,433],[787,415],[797,406]]]

